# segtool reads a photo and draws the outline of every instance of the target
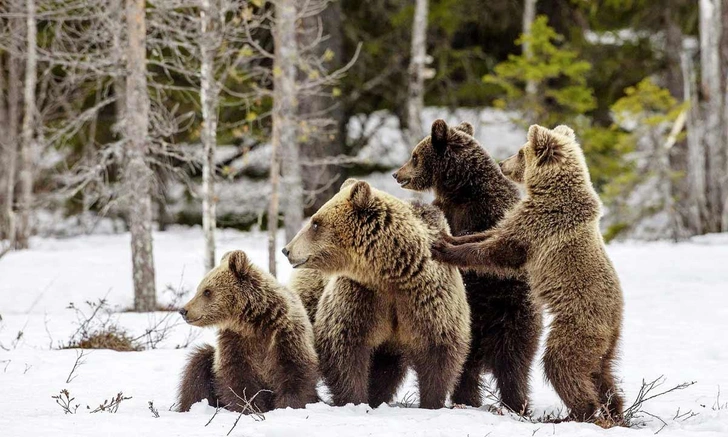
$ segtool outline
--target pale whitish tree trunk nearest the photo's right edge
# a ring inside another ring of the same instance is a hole
[[[720,37],[722,0],[700,0],[700,86],[704,102],[703,144],[707,168],[707,232],[720,232],[725,174],[722,113],[723,91],[720,78]]]

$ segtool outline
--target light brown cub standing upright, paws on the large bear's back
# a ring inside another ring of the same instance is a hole
[[[553,314],[545,374],[570,409],[593,420],[612,418],[623,401],[614,378],[623,298],[599,232],[601,203],[574,132],[531,126],[528,142],[502,163],[523,183],[523,199],[493,229],[449,237],[433,256],[461,268],[503,277],[528,274],[531,291]]]

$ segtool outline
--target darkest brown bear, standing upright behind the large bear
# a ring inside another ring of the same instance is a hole
[[[436,120],[431,135],[393,176],[403,188],[433,190],[433,204],[445,213],[454,236],[492,228],[520,199],[517,186],[473,138],[473,126],[466,122],[448,128],[443,120]],[[541,311],[530,296],[525,275],[462,274],[473,339],[452,400],[479,407],[481,373],[489,371],[503,404],[525,412],[542,328]]]

